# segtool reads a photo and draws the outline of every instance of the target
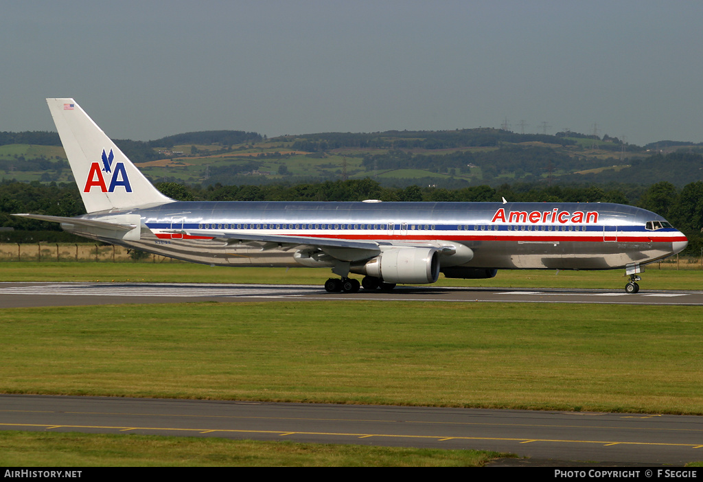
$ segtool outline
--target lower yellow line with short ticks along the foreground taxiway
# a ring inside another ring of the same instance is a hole
[[[418,438],[425,440],[434,441],[501,441],[501,442],[517,442],[517,443],[595,443],[605,447],[612,445],[647,445],[647,446],[659,446],[659,447],[690,447],[690,448],[702,448],[703,445],[692,444],[692,443],[667,443],[667,442],[619,442],[619,441],[595,441],[595,440],[565,440],[557,438],[506,438],[506,437],[463,437],[463,436],[434,436],[434,435],[399,435],[399,434],[354,434],[354,433],[335,433],[335,432],[309,432],[309,431],[290,431],[281,432],[273,430],[236,430],[236,429],[172,429],[168,427],[126,427],[126,426],[105,426],[105,425],[46,425],[46,424],[5,424],[0,423],[0,426],[11,426],[11,427],[30,427],[30,428],[44,428],[44,429],[110,429],[117,431],[134,431],[134,430],[149,430],[149,431],[165,431],[165,432],[198,432],[203,433],[221,433],[221,434],[263,434],[263,435],[278,435],[278,436],[290,436],[290,435],[305,435],[305,436],[344,436],[344,437],[356,437],[356,438],[369,438],[369,437],[385,437],[385,438]]]

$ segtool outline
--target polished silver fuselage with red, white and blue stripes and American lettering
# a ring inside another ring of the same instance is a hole
[[[91,239],[220,266],[300,265],[295,249],[228,242],[207,236],[207,230],[373,240],[380,245],[440,241],[472,250],[472,259],[460,266],[494,269],[622,268],[666,258],[687,243],[674,228],[647,228],[647,221],[666,223],[662,216],[605,203],[169,202],[81,217],[125,214],[141,219],[136,240],[115,240],[82,226],[62,226]],[[188,235],[193,230],[198,235]]]

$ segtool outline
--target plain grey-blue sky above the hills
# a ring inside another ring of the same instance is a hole
[[[479,126],[703,141],[700,0],[0,0],[0,131]],[[521,122],[524,127],[521,126]]]

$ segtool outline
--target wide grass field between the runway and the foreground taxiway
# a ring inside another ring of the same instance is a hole
[[[382,301],[8,308],[0,391],[703,414],[701,313]]]

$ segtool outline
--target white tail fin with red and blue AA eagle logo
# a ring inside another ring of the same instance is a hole
[[[173,202],[154,187],[71,98],[48,98],[86,211]]]

